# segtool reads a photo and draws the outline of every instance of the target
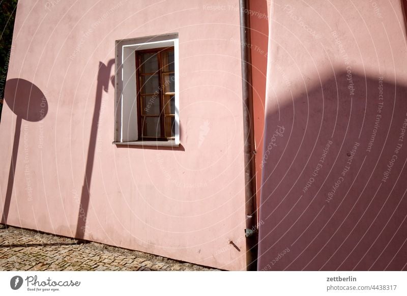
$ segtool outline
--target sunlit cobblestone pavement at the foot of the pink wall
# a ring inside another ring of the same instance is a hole
[[[0,224],[0,271],[209,271],[147,253]]]

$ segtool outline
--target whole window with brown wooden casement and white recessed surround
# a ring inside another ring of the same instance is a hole
[[[115,144],[180,144],[178,35],[116,41]]]

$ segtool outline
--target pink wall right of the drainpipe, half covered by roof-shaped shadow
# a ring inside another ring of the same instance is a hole
[[[406,270],[401,2],[276,0],[271,20],[258,269]]]

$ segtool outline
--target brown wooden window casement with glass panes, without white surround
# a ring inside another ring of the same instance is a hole
[[[174,48],[136,51],[138,134],[141,139],[175,139]]]

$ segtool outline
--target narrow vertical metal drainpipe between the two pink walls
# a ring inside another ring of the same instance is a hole
[[[253,89],[250,52],[250,14],[249,0],[239,0],[240,40],[242,51],[242,98],[243,134],[245,162],[245,214],[246,214],[246,264],[248,271],[257,270],[257,204],[256,167],[253,123]]]

